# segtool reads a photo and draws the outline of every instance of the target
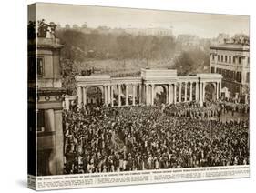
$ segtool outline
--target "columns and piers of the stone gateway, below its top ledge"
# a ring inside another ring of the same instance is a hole
[[[156,86],[165,86],[166,88],[166,104],[176,104],[180,102],[199,101],[202,104],[205,101],[205,88],[207,84],[213,84],[216,100],[221,96],[221,81],[176,81],[169,84],[159,83],[130,83],[130,84],[108,84],[108,85],[95,85],[101,86],[103,101],[105,105],[110,104],[112,107],[118,105],[122,106],[122,96],[125,96],[124,105],[128,106],[128,87],[132,88],[132,106],[138,104],[154,105],[155,99],[155,88]],[[114,87],[117,86],[118,98],[117,102],[114,103]],[[124,94],[122,86],[125,86]],[[87,104],[87,87],[88,86],[77,86],[77,102],[78,106]],[[137,89],[137,91],[136,91]],[[177,96],[179,94],[179,96]],[[138,100],[136,101],[136,98]]]

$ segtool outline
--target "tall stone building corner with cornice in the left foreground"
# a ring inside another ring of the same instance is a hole
[[[63,173],[62,101],[59,39],[36,39],[37,176]]]

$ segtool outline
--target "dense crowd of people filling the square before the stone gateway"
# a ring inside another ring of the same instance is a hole
[[[248,120],[201,113],[218,117],[229,106],[70,107],[63,115],[65,173],[249,164]]]

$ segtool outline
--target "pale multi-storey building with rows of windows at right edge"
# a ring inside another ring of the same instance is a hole
[[[249,45],[225,42],[210,46],[210,73],[223,76],[222,87],[227,87],[231,96],[248,96],[249,65]]]

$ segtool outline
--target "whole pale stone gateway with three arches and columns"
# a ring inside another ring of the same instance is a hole
[[[220,74],[197,74],[194,76],[177,76],[173,69],[141,69],[138,77],[111,77],[109,75],[93,74],[77,76],[77,102],[82,107],[88,103],[87,89],[97,86],[102,92],[105,105],[128,106],[155,105],[157,87],[164,90],[165,104],[180,102],[205,101],[206,86],[212,86],[213,100],[221,95]]]

